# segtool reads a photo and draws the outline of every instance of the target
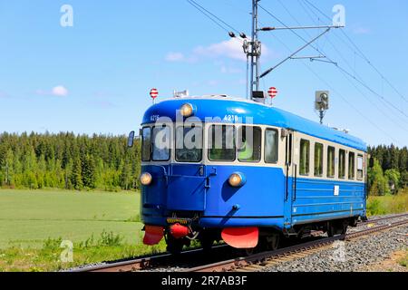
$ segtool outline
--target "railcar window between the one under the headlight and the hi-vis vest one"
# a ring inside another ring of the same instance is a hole
[[[236,159],[235,127],[212,125],[209,127],[209,160],[234,161]]]

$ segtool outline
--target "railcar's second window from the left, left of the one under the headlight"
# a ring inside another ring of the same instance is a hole
[[[170,160],[170,127],[153,127],[151,135],[151,145],[153,147],[151,160]]]

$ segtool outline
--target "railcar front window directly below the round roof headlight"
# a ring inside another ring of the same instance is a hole
[[[199,162],[202,160],[202,126],[186,124],[176,129],[176,160]]]

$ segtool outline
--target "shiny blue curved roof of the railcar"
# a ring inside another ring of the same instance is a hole
[[[164,100],[152,105],[144,114],[142,124],[154,122],[158,117],[168,117],[171,121],[176,121],[176,111],[186,102],[197,108],[194,116],[201,121],[206,118],[219,118],[220,122],[235,123],[244,122],[245,118],[253,118],[254,124],[275,126],[294,131],[299,131],[307,135],[323,140],[333,141],[356,150],[367,150],[363,140],[344,131],[321,125],[315,121],[310,121],[288,111],[283,111],[263,103],[248,101],[242,98],[232,98],[226,95],[211,95],[201,97],[182,97]],[[237,121],[235,117],[241,119]],[[226,118],[227,117],[227,118]],[[232,118],[231,118],[232,117]]]

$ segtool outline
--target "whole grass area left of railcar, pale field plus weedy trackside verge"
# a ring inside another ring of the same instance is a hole
[[[58,270],[163,251],[163,242],[142,245],[139,203],[134,192],[0,190],[0,271]],[[73,243],[73,262],[61,260],[63,240]]]

